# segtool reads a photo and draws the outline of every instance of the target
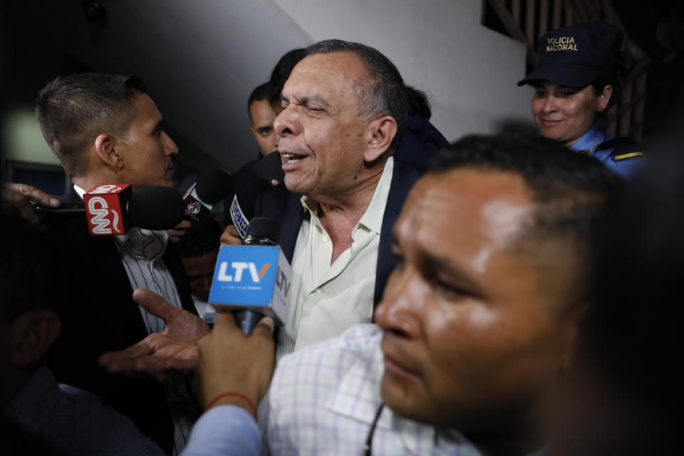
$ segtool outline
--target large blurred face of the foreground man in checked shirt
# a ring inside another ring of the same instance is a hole
[[[515,175],[466,169],[411,190],[394,227],[399,264],[375,313],[381,392],[399,415],[487,430],[529,415],[553,383],[569,325],[539,271],[561,259],[515,247],[529,198]]]

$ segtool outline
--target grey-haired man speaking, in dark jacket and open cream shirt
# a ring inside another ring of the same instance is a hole
[[[408,100],[377,50],[339,40],[309,46],[282,99],[274,129],[284,185],[257,203],[257,215],[280,222],[293,267],[280,354],[371,321],[395,265],[391,228],[420,175],[393,157]]]

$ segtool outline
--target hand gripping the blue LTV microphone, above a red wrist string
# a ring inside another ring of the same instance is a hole
[[[261,318],[250,336],[240,331],[230,312],[218,314],[214,329],[199,340],[197,388],[202,407],[227,391],[242,393],[259,403],[269,389],[275,363],[273,320]],[[247,405],[228,396],[217,403]],[[249,413],[251,408],[244,407]]]

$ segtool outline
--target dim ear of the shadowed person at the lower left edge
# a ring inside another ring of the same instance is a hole
[[[11,326],[12,363],[27,366],[43,358],[61,328],[61,321],[53,311],[36,309],[21,314]]]

